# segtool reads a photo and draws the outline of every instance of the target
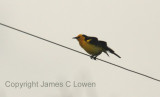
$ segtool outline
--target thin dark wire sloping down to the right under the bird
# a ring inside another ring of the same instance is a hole
[[[70,48],[70,47],[67,47],[67,46],[64,46],[64,45],[58,44],[58,43],[56,43],[56,42],[53,42],[53,41],[47,40],[47,39],[45,39],[45,38],[42,38],[42,37],[39,37],[39,36],[36,36],[36,35],[30,34],[30,33],[28,33],[28,32],[25,32],[25,31],[19,30],[19,29],[17,29],[17,28],[14,28],[14,27],[11,27],[11,26],[8,26],[8,25],[5,25],[5,24],[3,24],[3,23],[0,23],[0,25],[5,26],[5,27],[8,27],[8,28],[11,28],[11,29],[16,30],[16,31],[19,31],[19,32],[22,32],[22,33],[27,34],[27,35],[33,36],[33,37],[35,37],[35,38],[38,38],[38,39],[41,39],[41,40],[44,40],[44,41],[50,42],[50,43],[52,43],[52,44],[55,44],[55,45],[61,46],[61,47],[63,47],[63,48],[66,48],[66,49],[72,50],[72,51],[74,51],[74,52],[77,52],[77,53],[80,53],[80,54],[83,54],[83,55],[86,55],[86,56],[90,56],[90,55],[88,55],[88,54],[82,53],[82,52],[77,51],[77,50],[75,50],[75,49],[72,49],[72,48]],[[152,80],[155,80],[155,81],[160,82],[160,80],[159,80],[159,79],[156,79],[156,78],[154,78],[154,77],[151,77],[151,76],[148,76],[148,75],[145,75],[145,74],[139,73],[139,72],[137,72],[137,71],[134,71],[134,70],[131,70],[131,69],[127,69],[127,68],[125,68],[125,67],[122,67],[122,66],[116,65],[116,64],[114,64],[114,63],[111,63],[111,62],[108,62],[108,61],[105,61],[105,60],[102,60],[102,59],[99,59],[99,58],[97,58],[97,60],[102,61],[102,62],[105,62],[105,63],[108,63],[108,64],[113,65],[113,66],[116,66],[116,67],[118,67],[118,68],[124,69],[124,70],[126,70],[126,71],[129,71],[129,72],[132,72],[132,73],[135,73],[135,74],[138,74],[138,75],[141,75],[141,76],[147,77],[147,78],[149,78],[149,79],[152,79]]]

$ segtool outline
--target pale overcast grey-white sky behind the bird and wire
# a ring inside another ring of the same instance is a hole
[[[86,53],[96,36],[122,58],[98,58],[160,79],[159,0],[0,0],[0,22]],[[159,97],[160,82],[0,26],[0,97]],[[95,82],[95,88],[7,88],[6,81]]]

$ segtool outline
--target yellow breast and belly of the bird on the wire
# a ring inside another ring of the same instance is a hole
[[[99,55],[102,53],[102,48],[96,45],[90,44],[86,41],[79,41],[80,46],[91,55]]]

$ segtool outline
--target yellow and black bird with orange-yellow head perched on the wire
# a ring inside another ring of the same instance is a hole
[[[114,52],[111,48],[107,46],[105,41],[100,41],[96,37],[90,37],[84,34],[79,34],[77,37],[73,37],[73,39],[77,39],[80,46],[91,55],[91,59],[96,60],[96,57],[100,55],[102,52],[107,53],[110,52],[117,57],[121,58],[118,54]]]

